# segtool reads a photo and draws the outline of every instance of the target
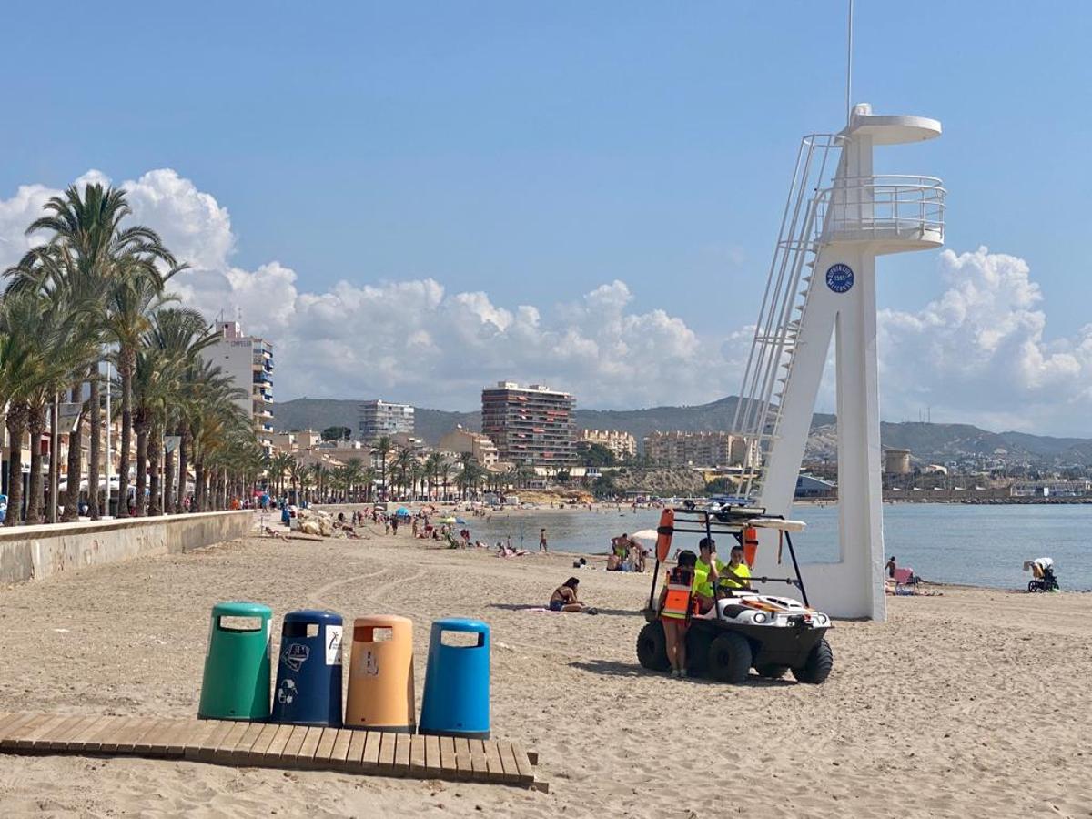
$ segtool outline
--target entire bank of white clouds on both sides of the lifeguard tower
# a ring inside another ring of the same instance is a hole
[[[80,181],[88,180],[109,181],[95,170]],[[370,271],[313,292],[275,260],[233,264],[227,209],[176,171],[121,185],[135,219],[192,265],[174,289],[210,318],[240,309],[245,330],[273,342],[281,400],[383,395],[471,407],[499,379],[551,383],[600,407],[700,403],[738,390],[752,328],[699,336],[666,310],[636,310],[618,278],[557,305],[500,305],[430,277],[383,281]],[[23,232],[57,192],[27,185],[0,199],[0,263],[31,246]],[[917,417],[928,405],[935,419],[1079,434],[1092,403],[1092,325],[1048,341],[1042,294],[1022,259],[986,248],[939,259],[941,295],[919,311],[880,311],[885,417]],[[831,395],[827,383],[821,402]]]

